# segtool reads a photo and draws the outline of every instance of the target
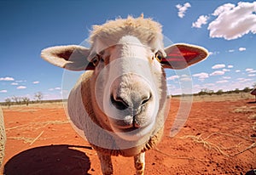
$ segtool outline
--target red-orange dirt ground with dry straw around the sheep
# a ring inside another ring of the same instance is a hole
[[[256,168],[256,104],[251,101],[195,101],[188,121],[171,138],[179,106],[172,99],[165,136],[146,153],[145,174],[245,174]],[[74,132],[61,104],[3,107],[3,115],[4,174],[101,174],[96,151]],[[113,157],[113,169],[135,174],[133,158]]]

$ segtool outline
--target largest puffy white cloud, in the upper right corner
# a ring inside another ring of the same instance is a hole
[[[210,37],[223,37],[232,40],[252,32],[256,34],[256,2],[237,4],[225,3],[218,7],[213,16],[217,19],[208,25]]]

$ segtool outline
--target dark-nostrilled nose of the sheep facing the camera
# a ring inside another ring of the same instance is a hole
[[[143,89],[144,90],[144,89]],[[123,94],[113,93],[111,95],[111,103],[118,110],[126,110],[130,108],[131,110],[138,110],[143,105],[147,104],[151,99],[151,93],[145,91],[126,91]]]

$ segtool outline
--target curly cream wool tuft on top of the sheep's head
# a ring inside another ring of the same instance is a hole
[[[137,37],[144,45],[151,45],[152,48],[163,47],[162,26],[154,20],[128,16],[127,19],[108,20],[103,25],[93,25],[90,31],[91,48],[95,46],[96,41],[100,40],[112,46],[117,43],[120,37],[125,35]],[[157,44],[156,44],[157,43]],[[158,46],[160,44],[160,46]]]

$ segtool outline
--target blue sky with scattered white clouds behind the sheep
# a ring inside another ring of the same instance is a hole
[[[91,25],[144,14],[163,25],[172,42],[208,49],[189,68],[193,92],[253,88],[256,82],[256,2],[253,1],[0,1],[0,101],[41,92],[61,99],[63,70],[40,58],[43,48],[79,44]],[[80,72],[82,73],[82,72]],[[170,93],[179,93],[175,71],[167,71]]]

